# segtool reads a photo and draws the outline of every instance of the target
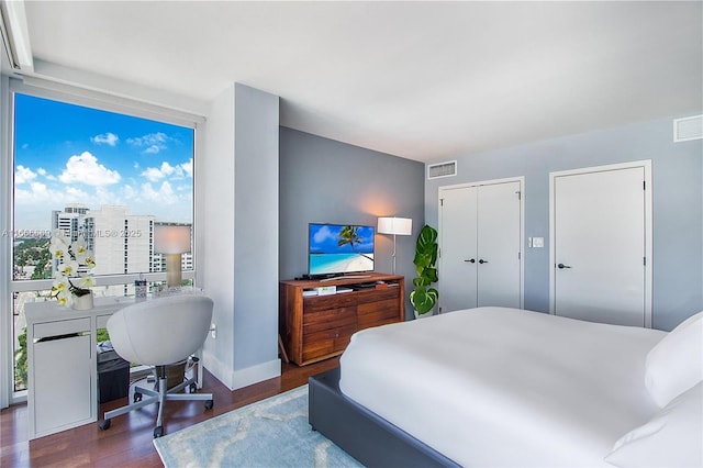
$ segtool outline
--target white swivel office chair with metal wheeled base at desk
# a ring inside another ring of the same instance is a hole
[[[100,423],[147,404],[158,403],[154,437],[164,435],[164,403],[167,400],[203,400],[212,408],[212,393],[179,393],[186,387],[194,390],[196,379],[186,379],[167,389],[166,366],[183,361],[196,353],[208,337],[212,321],[212,299],[204,296],[171,296],[127,305],[108,320],[108,333],[114,350],[130,363],[154,366],[158,391],[135,387],[133,403],[108,411]]]

